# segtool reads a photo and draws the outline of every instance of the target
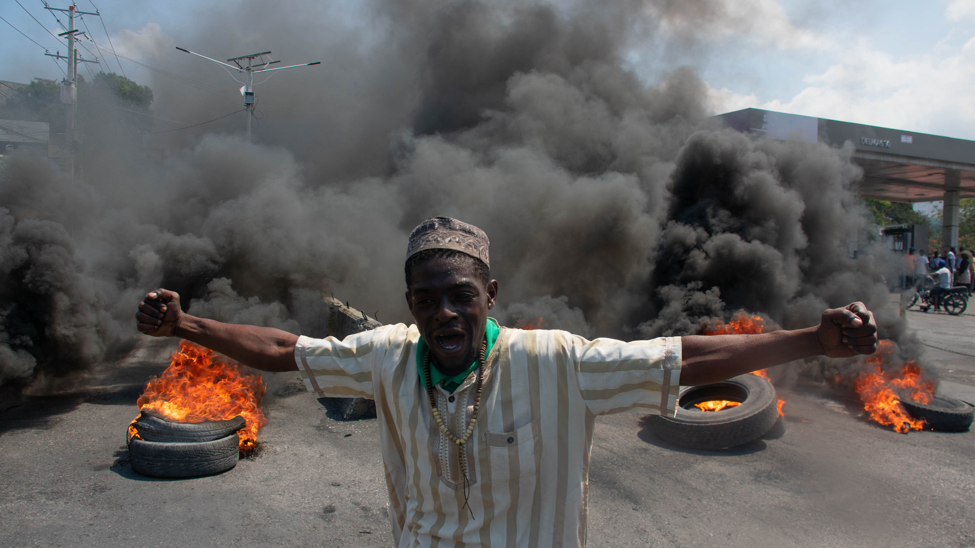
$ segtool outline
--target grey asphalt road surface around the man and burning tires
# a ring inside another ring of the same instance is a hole
[[[908,314],[925,342],[975,355],[975,317]],[[391,544],[375,421],[332,420],[293,373],[276,375],[253,459],[188,480],[133,472],[126,425],[174,343],[0,412],[0,546]],[[975,385],[975,360],[926,359]],[[735,450],[681,450],[640,415],[600,417],[588,545],[975,546],[975,435],[897,434],[811,382],[779,395],[784,432]]]

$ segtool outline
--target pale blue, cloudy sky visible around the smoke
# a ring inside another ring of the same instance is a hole
[[[79,10],[96,11],[93,1],[79,1]],[[192,36],[193,15],[204,9],[186,0],[97,4],[104,28],[94,16],[85,16],[78,26],[87,23],[102,45],[107,30],[116,49],[145,62],[180,55],[163,46],[173,37]],[[220,9],[232,10],[232,4]],[[356,3],[331,5],[331,14],[368,27]],[[645,11],[662,25],[636,35],[626,62],[647,86],[669,70],[694,67],[709,86],[715,113],[760,107],[975,139],[970,99],[975,90],[975,0],[648,0]],[[65,48],[49,33],[60,31],[59,22],[42,1],[2,2],[0,17],[6,20],[0,21],[0,45],[7,54],[0,80],[60,79],[61,68],[43,50]],[[259,27],[259,20],[254,24]],[[95,46],[86,44],[91,55],[83,55],[98,56]],[[119,71],[121,62],[129,76],[148,80],[145,69],[129,60],[110,54],[100,58],[107,70]],[[229,77],[215,81],[228,92],[239,87]]]

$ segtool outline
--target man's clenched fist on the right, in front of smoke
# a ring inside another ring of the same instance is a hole
[[[849,358],[877,352],[874,313],[859,301],[823,312],[823,318],[816,328],[816,337],[823,354],[830,358]]]

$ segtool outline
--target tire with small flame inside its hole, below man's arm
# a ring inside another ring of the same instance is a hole
[[[731,407],[720,411],[701,411],[697,407],[715,402]],[[714,384],[683,387],[677,416],[649,415],[647,427],[675,446],[721,450],[759,439],[772,428],[777,417],[772,383],[749,373]]]

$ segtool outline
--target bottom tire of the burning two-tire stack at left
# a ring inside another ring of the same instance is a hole
[[[209,442],[147,442],[129,440],[132,468],[156,478],[206,476],[237,466],[237,434]]]

